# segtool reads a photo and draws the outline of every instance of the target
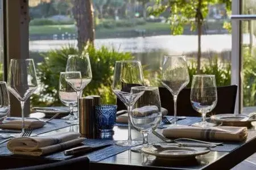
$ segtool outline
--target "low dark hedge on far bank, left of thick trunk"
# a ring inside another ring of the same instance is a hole
[[[67,21],[55,21],[52,19],[40,18],[40,19],[33,19],[30,21],[30,25],[70,25],[74,24],[74,20],[67,20]]]

